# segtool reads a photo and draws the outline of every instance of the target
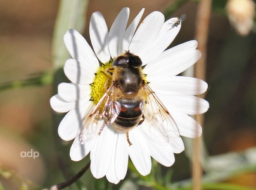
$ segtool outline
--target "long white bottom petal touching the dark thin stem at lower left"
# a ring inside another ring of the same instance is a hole
[[[114,134],[110,126],[105,127],[91,150],[91,172],[97,179],[105,176],[110,167],[115,142]]]

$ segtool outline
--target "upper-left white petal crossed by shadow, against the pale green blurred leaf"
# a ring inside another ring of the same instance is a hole
[[[93,70],[93,73],[96,73],[99,67],[99,61],[93,49],[91,49],[86,39],[84,39],[79,32],[73,29],[68,30],[64,35],[64,42],[72,58],[86,63],[86,65]]]

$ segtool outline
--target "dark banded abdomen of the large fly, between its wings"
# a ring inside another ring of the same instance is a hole
[[[117,101],[121,105],[120,113],[114,122],[117,130],[126,131],[130,130],[132,127],[136,127],[141,120],[141,105],[143,103],[143,100],[140,98],[121,98]]]

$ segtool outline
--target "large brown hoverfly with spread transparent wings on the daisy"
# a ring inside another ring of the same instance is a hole
[[[85,118],[80,132],[82,144],[94,135],[100,135],[104,127],[112,124],[115,130],[126,132],[131,146],[129,130],[144,120],[150,123],[149,127],[160,130],[165,136],[172,136],[174,132],[179,137],[176,122],[143,79],[142,64],[139,56],[129,51],[113,60],[113,68],[106,70],[105,74],[111,84],[89,117]]]

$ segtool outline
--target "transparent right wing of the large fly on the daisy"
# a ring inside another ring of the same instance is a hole
[[[144,103],[143,114],[150,125],[156,129],[155,132],[160,131],[167,137],[180,137],[179,128],[174,118],[172,118],[167,108],[165,108],[148,84],[144,84],[144,91],[146,93],[146,101]]]

